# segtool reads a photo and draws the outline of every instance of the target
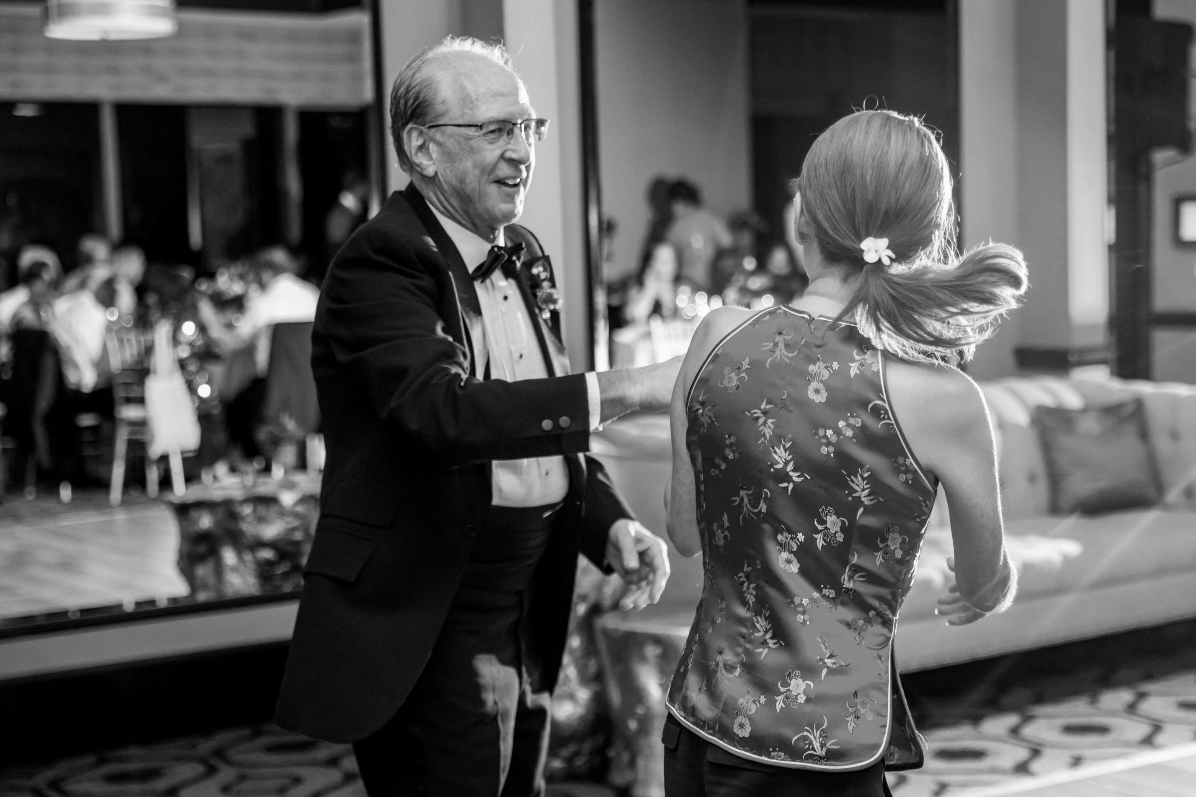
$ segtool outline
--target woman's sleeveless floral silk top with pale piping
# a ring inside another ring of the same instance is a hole
[[[706,578],[673,716],[739,756],[921,764],[892,638],[934,504],[854,324],[770,307],[690,387]]]

